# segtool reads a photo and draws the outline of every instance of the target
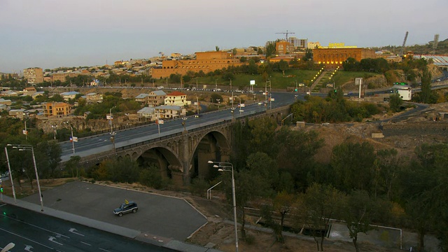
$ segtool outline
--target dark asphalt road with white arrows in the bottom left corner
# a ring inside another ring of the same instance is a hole
[[[0,204],[0,249],[9,251],[171,251],[36,211]]]

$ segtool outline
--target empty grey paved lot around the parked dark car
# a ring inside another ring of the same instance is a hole
[[[38,194],[22,199],[40,204]],[[113,209],[125,200],[137,202],[136,214],[118,217]],[[43,205],[96,221],[137,230],[148,237],[185,240],[207,223],[199,211],[183,199],[73,181],[43,192]]]

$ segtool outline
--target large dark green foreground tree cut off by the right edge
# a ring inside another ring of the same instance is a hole
[[[416,159],[400,173],[401,200],[414,228],[419,233],[419,251],[424,250],[424,237],[435,230],[441,246],[448,248],[448,145],[417,146]]]

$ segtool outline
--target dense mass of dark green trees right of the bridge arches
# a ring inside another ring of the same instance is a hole
[[[447,172],[442,164],[448,145],[419,146],[415,158],[409,158],[400,157],[393,148],[375,150],[368,142],[347,140],[332,149],[329,164],[321,164],[314,160],[323,146],[318,134],[275,129],[269,118],[235,125],[235,155],[230,162],[237,170],[243,235],[244,207],[258,207],[278,241],[283,241],[286,221],[299,230],[306,225],[318,251],[323,251],[321,232],[330,218],[346,221],[356,247],[358,233],[375,223],[416,230],[420,251],[428,232],[435,233],[446,248],[448,222],[442,218],[448,201],[440,195],[447,188],[441,173]],[[230,201],[230,178],[218,180],[226,183]],[[274,212],[280,221],[274,221]],[[286,214],[295,217],[286,220]]]

